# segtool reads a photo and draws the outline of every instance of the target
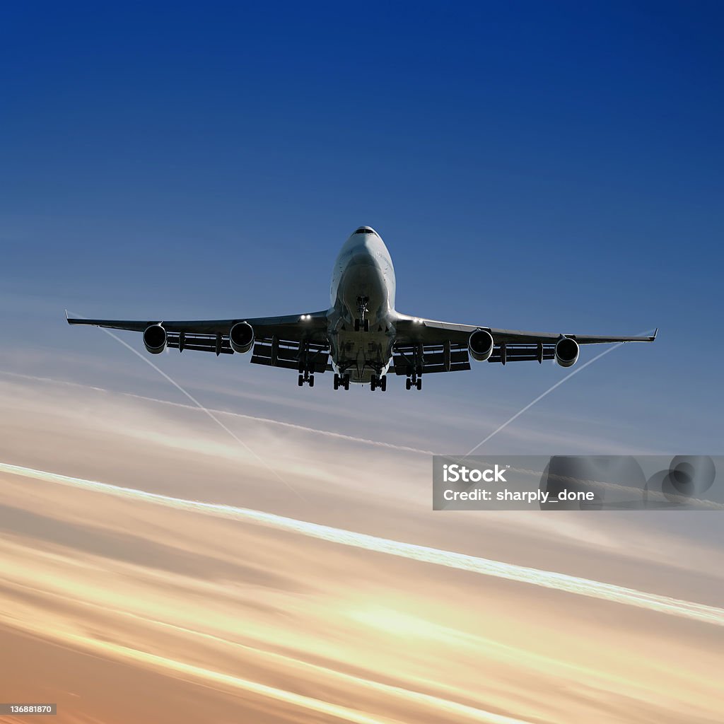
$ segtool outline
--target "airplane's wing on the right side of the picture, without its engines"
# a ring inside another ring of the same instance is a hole
[[[644,337],[625,337],[604,334],[567,334],[562,332],[523,332],[520,329],[496,329],[473,327],[470,324],[453,324],[434,319],[401,315],[397,320],[394,370],[396,374],[410,374],[411,369],[420,372],[448,372],[470,369],[469,353],[471,335],[479,334],[479,358],[481,361],[523,362],[556,359],[556,345],[563,366],[570,366],[578,358],[578,345],[595,345],[615,342],[653,342],[654,334]],[[487,336],[489,335],[489,336]],[[492,344],[490,338],[492,337]],[[474,346],[474,345],[473,345]],[[565,348],[568,347],[568,350]],[[568,356],[564,357],[563,353]],[[475,356],[475,355],[473,355]]]

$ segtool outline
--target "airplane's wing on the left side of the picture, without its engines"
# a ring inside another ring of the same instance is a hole
[[[162,327],[163,344],[150,352],[162,352],[165,348],[214,352],[216,355],[233,354],[230,332],[235,324],[245,322],[253,329],[251,362],[287,369],[308,369],[324,372],[328,368],[329,343],[327,342],[327,310],[311,313],[270,317],[239,317],[237,319],[72,319],[66,312],[68,324],[88,324],[106,329],[122,329],[142,332],[146,342],[146,330]]]

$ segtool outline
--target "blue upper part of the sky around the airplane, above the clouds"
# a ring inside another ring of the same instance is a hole
[[[58,376],[136,391],[122,377],[135,361],[101,332],[67,329],[63,308],[322,308],[337,248],[370,224],[400,311],[661,328],[556,390],[531,431],[588,429],[610,452],[719,452],[723,15],[653,2],[6,7],[3,366],[49,374],[55,356]],[[186,384],[316,397],[282,417],[324,420],[340,401],[331,382],[298,391],[237,358],[161,363]],[[473,426],[484,411],[472,447],[563,374],[479,365],[429,381],[424,403],[368,391],[353,405],[369,420],[395,405],[402,423],[403,409]]]

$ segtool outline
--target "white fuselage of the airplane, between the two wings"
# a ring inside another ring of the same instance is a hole
[[[370,227],[358,229],[342,246],[332,270],[330,296],[327,319],[334,370],[349,374],[350,382],[369,382],[371,376],[385,374],[395,342],[395,269],[390,252]]]

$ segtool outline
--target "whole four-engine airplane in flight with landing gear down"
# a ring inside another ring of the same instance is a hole
[[[147,319],[69,319],[143,333],[151,354],[167,348],[220,354],[245,354],[254,364],[293,369],[298,385],[314,386],[315,374],[334,372],[334,390],[350,383],[387,390],[387,376],[405,377],[407,390],[421,390],[435,372],[471,369],[474,361],[555,360],[571,367],[579,345],[653,342],[648,337],[607,337],[560,332],[521,332],[469,324],[450,324],[395,310],[395,269],[382,237],[359,227],[345,242],[332,270],[331,306],[287,316],[236,317],[201,321]]]

